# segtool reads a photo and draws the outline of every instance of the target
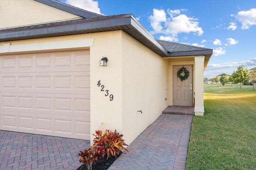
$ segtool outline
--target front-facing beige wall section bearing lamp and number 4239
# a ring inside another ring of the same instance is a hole
[[[95,130],[117,129],[122,134],[122,31],[94,33],[93,47],[90,49],[91,81],[91,133]],[[108,58],[107,66],[100,66],[102,56]],[[97,86],[100,80],[104,85]],[[114,96],[110,101],[110,94]],[[91,137],[91,141],[93,140]],[[127,137],[124,137],[126,139]]]

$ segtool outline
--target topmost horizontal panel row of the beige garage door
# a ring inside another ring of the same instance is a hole
[[[0,72],[90,71],[90,51],[3,55]]]

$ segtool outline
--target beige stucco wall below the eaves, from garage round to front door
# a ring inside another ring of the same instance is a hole
[[[80,41],[83,39],[84,42]],[[64,46],[62,41],[73,43]],[[172,66],[192,64],[195,74],[194,57],[187,59],[191,61],[163,59],[123,31],[10,41],[2,42],[0,46],[46,43],[41,47],[47,44],[52,47],[52,42],[59,44],[58,50],[90,47],[91,134],[98,129],[117,129],[124,135],[127,144],[142,133],[162,110],[172,105]],[[108,58],[106,67],[99,64],[102,56]],[[202,63],[199,65],[203,67]],[[104,90],[109,90],[108,96],[97,86],[99,80]],[[110,94],[114,96],[112,101]],[[165,101],[165,98],[168,100]],[[142,110],[142,113],[138,110]],[[91,142],[93,139],[91,135]]]

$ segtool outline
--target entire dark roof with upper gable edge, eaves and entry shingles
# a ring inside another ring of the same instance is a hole
[[[210,57],[213,52],[212,49],[156,40],[132,14],[102,16],[56,0],[36,1],[76,14],[82,18],[0,29],[0,42],[123,30],[161,57],[196,55]]]

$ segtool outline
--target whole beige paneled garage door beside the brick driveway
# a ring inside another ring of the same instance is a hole
[[[90,140],[90,51],[0,58],[0,129]]]

